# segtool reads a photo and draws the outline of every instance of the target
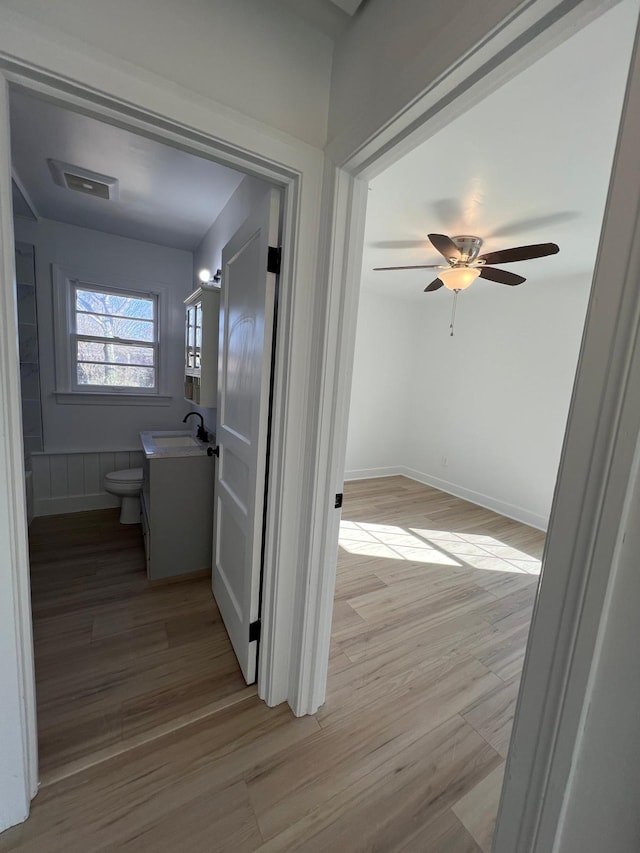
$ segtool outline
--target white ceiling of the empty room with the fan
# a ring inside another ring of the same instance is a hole
[[[443,298],[423,294],[437,271],[372,271],[439,263],[429,232],[477,235],[483,252],[558,243],[503,267],[531,283],[592,271],[638,5],[623,0],[371,182],[363,288]]]

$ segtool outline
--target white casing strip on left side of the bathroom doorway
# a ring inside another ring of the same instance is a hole
[[[0,78],[0,832],[27,817],[38,761],[8,95]]]

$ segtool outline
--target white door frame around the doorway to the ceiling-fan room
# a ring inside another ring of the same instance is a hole
[[[343,486],[355,349],[357,290],[366,181],[428,139],[470,105],[616,5],[612,2],[523,3],[499,33],[461,59],[415,102],[356,151],[339,138],[327,153],[341,166],[327,189],[333,230],[324,235],[330,281],[325,306],[325,394],[318,406],[318,490],[309,571],[314,600],[299,668],[312,713],[324,700],[339,519],[334,492]],[[634,486],[640,430],[640,59],[636,32],[630,69],[633,107],[623,111],[580,358],[549,522],[494,853],[549,853],[562,826],[572,782],[591,666],[616,580],[622,510]],[[634,70],[635,69],[635,70]],[[627,88],[625,106],[630,100]],[[349,152],[349,153],[346,153]],[[329,462],[327,462],[327,457]],[[576,495],[580,500],[576,500]],[[638,601],[640,612],[640,601]],[[307,687],[309,689],[307,690]]]

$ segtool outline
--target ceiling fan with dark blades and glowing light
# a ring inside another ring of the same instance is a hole
[[[509,272],[508,270],[496,269],[493,264],[510,264],[515,261],[528,261],[532,258],[544,258],[546,255],[555,255],[560,249],[555,243],[535,243],[532,246],[517,246],[513,249],[502,249],[497,252],[479,254],[482,248],[482,239],[466,234],[457,237],[447,237],[446,234],[427,235],[433,246],[447,261],[449,266],[443,264],[418,264],[416,266],[404,267],[375,267],[380,270],[442,270],[431,284],[428,284],[424,292],[431,293],[441,287],[447,287],[456,294],[466,290],[476,278],[486,278],[499,284],[514,286],[522,284],[526,279]]]

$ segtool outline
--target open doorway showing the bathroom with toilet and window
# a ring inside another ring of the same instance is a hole
[[[277,278],[267,257],[270,240],[280,246],[280,191],[24,92],[10,98],[39,771],[48,785],[257,693],[259,639],[249,640],[248,622],[260,615]],[[273,224],[258,242],[265,197]],[[254,239],[240,288],[230,271],[243,228]],[[205,282],[203,268],[213,270]],[[221,291],[208,280],[218,268]],[[195,298],[207,310],[187,321],[185,351],[184,303]],[[264,365],[257,383],[254,363]],[[197,439],[190,424],[180,430],[194,413]],[[245,493],[228,458],[230,419],[254,469]],[[198,455],[181,457],[180,441]],[[107,480],[127,477],[142,484],[140,505],[120,524]],[[230,483],[232,509],[238,494],[253,509],[242,543],[228,543],[233,522],[214,512],[216,477],[218,497]],[[251,586],[244,633],[225,611],[221,578],[241,603]],[[248,650],[252,666],[241,672],[236,658]]]

